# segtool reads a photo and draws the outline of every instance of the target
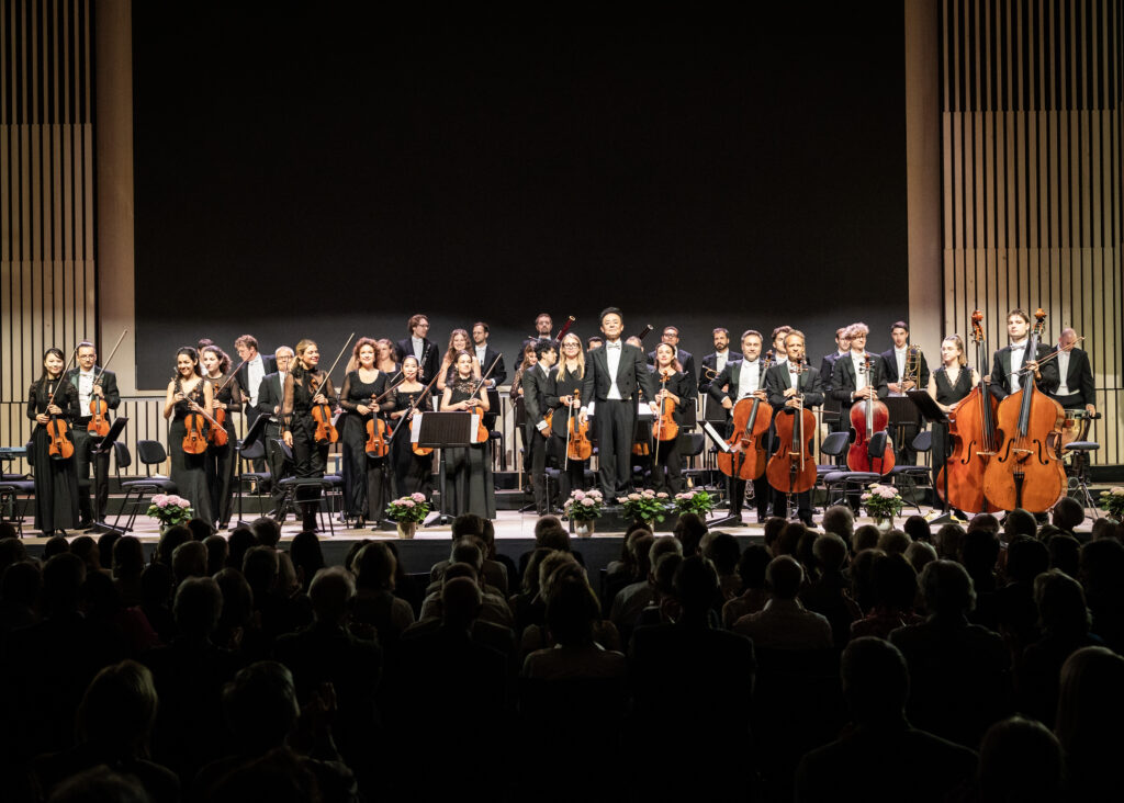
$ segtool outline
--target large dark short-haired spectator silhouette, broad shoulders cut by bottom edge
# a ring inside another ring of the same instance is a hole
[[[970,795],[976,754],[906,720],[909,673],[897,648],[882,639],[854,639],[843,651],[840,675],[854,724],[837,741],[800,760],[797,803],[944,801]],[[877,770],[855,772],[871,761]]]

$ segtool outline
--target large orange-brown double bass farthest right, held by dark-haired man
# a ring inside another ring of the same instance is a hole
[[[1036,358],[1046,313],[1039,309],[1034,318],[1036,322],[1023,352],[1024,362]],[[1066,492],[1066,469],[1061,463],[1066,411],[1039,391],[1035,376],[1026,373],[1026,368],[1015,372],[1022,374],[1021,387],[999,402],[996,417],[999,448],[984,474],[984,494],[1000,510],[1023,508],[1044,513]]]

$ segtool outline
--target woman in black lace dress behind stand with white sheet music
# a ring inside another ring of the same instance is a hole
[[[473,375],[472,355],[456,355],[456,374],[445,386],[441,399],[444,411],[478,410],[488,412],[488,394],[478,389],[480,381]],[[528,390],[529,393],[529,390]],[[540,436],[536,436],[540,437]],[[445,449],[444,504],[452,515],[475,513],[484,519],[496,518],[496,485],[492,482],[488,444],[469,444]]]

